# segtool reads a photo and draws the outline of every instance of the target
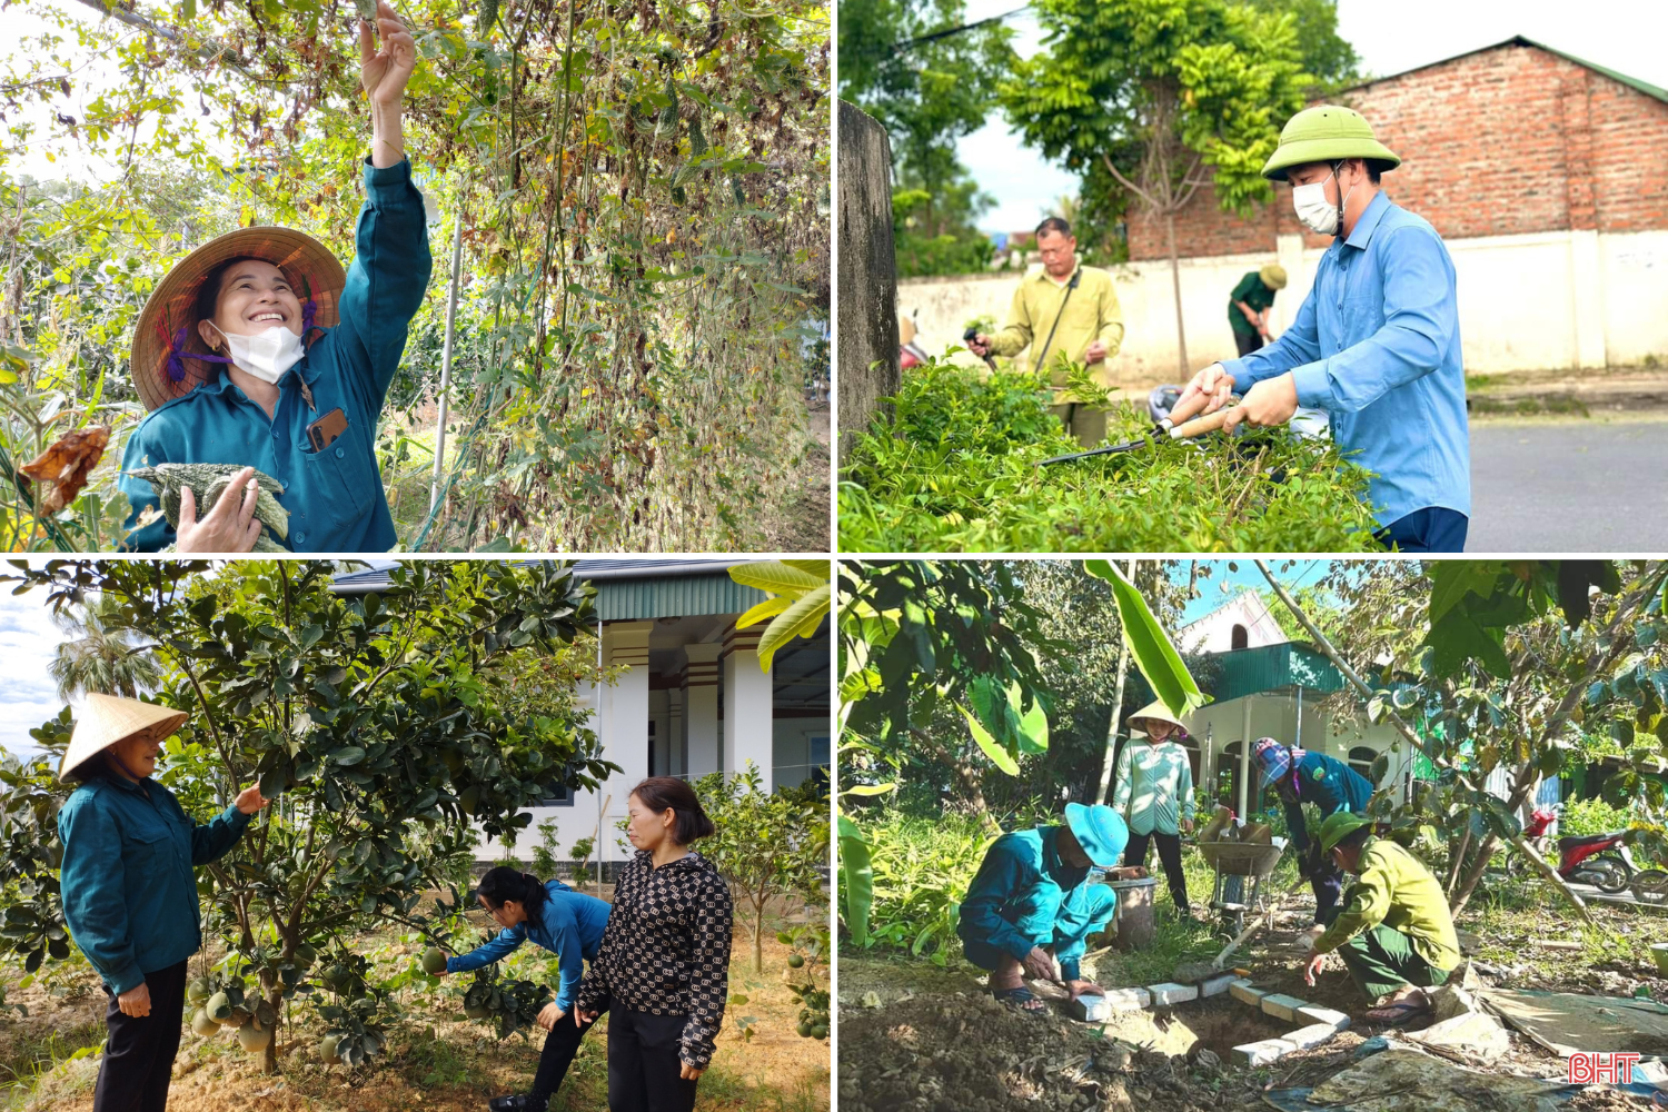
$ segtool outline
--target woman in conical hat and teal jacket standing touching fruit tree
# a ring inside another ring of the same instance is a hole
[[[105,984],[108,1040],[93,1112],[163,1112],[185,1014],[185,962],[202,949],[195,865],[224,857],[267,805],[244,789],[197,824],[150,779],[185,724],[170,707],[88,695],[58,779],[80,787],[58,812],[63,922]]]

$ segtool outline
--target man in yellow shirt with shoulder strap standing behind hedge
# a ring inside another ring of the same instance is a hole
[[[1026,352],[1031,370],[1048,370],[1056,390],[1066,385],[1066,375],[1058,365],[1064,355],[1088,363],[1094,380],[1106,385],[1106,360],[1118,355],[1118,347],[1124,342],[1124,318],[1118,308],[1118,292],[1113,290],[1113,275],[1078,263],[1078,237],[1059,217],[1039,223],[1036,237],[1042,270],[1014,290],[1007,327],[996,335],[981,332],[967,342],[967,350],[979,358]],[[1054,407],[1054,413],[1086,448],[1106,438],[1106,410],[1063,402]]]

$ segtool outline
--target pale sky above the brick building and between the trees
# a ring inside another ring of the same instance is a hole
[[[991,18],[1021,7],[1022,0],[967,0],[967,20]],[[1668,87],[1668,23],[1661,0],[1605,0],[1571,5],[1565,0],[1338,0],[1338,32],[1356,48],[1363,70],[1386,77],[1439,62],[1513,35],[1596,65]],[[1007,20],[1014,47],[1031,57],[1042,47],[1036,17],[1029,12]],[[1655,27],[1656,32],[1646,28]],[[979,227],[986,232],[1021,232],[1048,215],[1054,198],[1078,192],[1078,178],[1039,153],[1019,145],[1001,115],[957,145],[962,165],[979,188],[996,198]],[[1254,572],[1254,569],[1253,569]]]

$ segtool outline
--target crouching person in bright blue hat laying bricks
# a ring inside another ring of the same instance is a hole
[[[1099,804],[1066,804],[1064,825],[996,839],[956,924],[967,960],[991,970],[992,997],[1022,1012],[1042,1012],[1046,1005],[1026,987],[1026,977],[1063,980],[1073,1000],[1106,995],[1083,979],[1079,962],[1089,937],[1113,922],[1118,897],[1104,884],[1088,882],[1089,867],[1114,880],[1143,875],[1143,869],[1116,867],[1128,842],[1124,817]]]

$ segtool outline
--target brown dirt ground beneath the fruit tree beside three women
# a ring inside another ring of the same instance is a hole
[[[482,919],[482,924],[485,920]],[[477,924],[480,925],[480,924]],[[741,927],[741,925],[739,925]],[[409,967],[420,945],[367,935],[355,947],[374,955],[379,974]],[[801,1039],[799,1004],[786,987],[789,949],[767,937],[764,972],[751,969],[752,942],[737,929],[731,962],[731,1005],[719,1034],[712,1069],[702,1077],[697,1109],[702,1112],[816,1112],[829,1107],[829,1044]],[[193,974],[197,965],[193,960]],[[12,980],[12,970],[3,970]],[[550,965],[554,974],[554,960]],[[821,975],[826,980],[826,970]],[[457,979],[467,980],[467,979]],[[12,985],[17,982],[12,980]],[[7,1112],[90,1112],[103,1040],[103,990],[90,970],[57,977],[57,995],[33,984],[10,987],[8,1004],[28,1007],[27,1017],[0,1014],[0,1109]],[[737,1002],[746,997],[746,1004]],[[462,1015],[459,997],[444,989],[409,994],[407,1015],[392,1029],[387,1059],[374,1069],[347,1070],[324,1065],[317,1055],[319,1024],[309,1007],[280,1030],[279,1074],[264,1075],[244,1054],[232,1032],[208,1039],[185,1030],[175,1059],[170,1112],[479,1112],[489,1097],[525,1092],[539,1062],[544,1032],[499,1042],[487,1027]],[[744,1027],[752,1035],[742,1034]],[[58,1032],[50,1065],[30,1067],[25,1050]],[[580,1045],[552,1112],[590,1112],[607,1105],[607,1019]],[[10,1067],[10,1070],[8,1070]],[[22,1077],[18,1077],[18,1074]],[[25,1084],[17,1084],[23,1080]]]

